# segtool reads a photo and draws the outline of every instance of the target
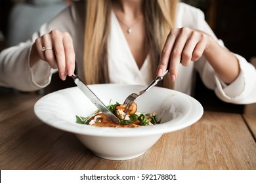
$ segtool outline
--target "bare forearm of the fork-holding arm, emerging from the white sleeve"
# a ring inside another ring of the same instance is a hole
[[[240,73],[238,59],[232,52],[214,41],[212,37],[209,37],[208,45],[203,55],[223,82],[226,84],[232,83]]]

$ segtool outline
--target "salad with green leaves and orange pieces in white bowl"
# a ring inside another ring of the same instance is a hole
[[[139,127],[159,124],[156,112],[152,112],[151,114],[137,112],[137,103],[135,102],[133,102],[128,109],[126,116],[124,112],[126,105],[116,103],[114,105],[108,105],[107,107],[117,116],[120,124],[115,124],[111,120],[108,120],[100,110],[96,110],[91,116],[76,116],[76,122],[78,124],[95,125],[99,127]]]

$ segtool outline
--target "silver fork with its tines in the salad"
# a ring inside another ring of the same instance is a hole
[[[165,76],[167,73],[168,73],[168,70],[166,70],[165,73],[163,73],[163,76]],[[125,108],[125,116],[127,115],[127,111],[131,107],[131,104],[135,100],[137,100],[140,97],[140,95],[142,95],[143,93],[150,90],[153,86],[156,86],[156,84],[158,84],[158,82],[160,82],[160,80],[163,79],[163,76],[157,76],[154,80],[152,80],[150,85],[148,85],[148,87],[145,90],[141,90],[140,92],[137,92],[137,93],[131,93],[131,95],[129,95],[125,99],[125,101],[123,102],[123,105],[127,105],[126,108]],[[125,119],[125,118],[123,118],[123,119]]]

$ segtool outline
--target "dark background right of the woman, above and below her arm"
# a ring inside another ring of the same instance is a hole
[[[256,57],[256,1],[255,0],[183,0],[205,12],[205,19],[226,48],[240,54],[247,61]],[[224,103],[215,93],[196,80],[195,98],[205,110],[243,113],[244,105]],[[256,95],[256,94],[255,94]],[[247,107],[247,106],[246,106]],[[254,110],[255,108],[253,108]],[[251,110],[251,109],[250,109]],[[256,111],[254,111],[256,113]]]

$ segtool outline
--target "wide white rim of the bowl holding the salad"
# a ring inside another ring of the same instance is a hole
[[[98,86],[104,86],[104,87],[111,87],[111,86],[119,86],[119,87],[145,87],[142,85],[131,85],[131,84],[91,84],[88,85],[90,88],[95,88]],[[44,122],[47,125],[51,125],[52,127],[55,127],[57,129],[61,129],[63,131],[68,131],[71,133],[75,133],[77,135],[93,135],[97,137],[142,137],[142,136],[150,136],[150,135],[159,135],[163,133],[169,133],[171,131],[177,131],[179,129],[184,129],[185,127],[188,127],[200,120],[200,118],[203,115],[203,107],[193,97],[190,95],[186,95],[184,93],[170,90],[167,88],[161,88],[158,86],[154,86],[152,88],[154,90],[169,90],[170,92],[173,92],[179,96],[181,96],[187,103],[189,103],[190,106],[193,106],[190,108],[190,113],[182,116],[182,120],[184,120],[184,123],[181,124],[179,122],[179,119],[175,121],[172,120],[171,123],[165,122],[163,124],[158,125],[150,125],[150,126],[141,126],[136,128],[115,128],[115,127],[95,127],[91,125],[84,125],[84,124],[77,124],[76,122],[70,123],[64,120],[55,119],[53,120],[45,120],[45,116],[47,114],[47,110],[42,110],[42,105],[45,105],[43,103],[44,101],[47,101],[48,97],[53,97],[53,95],[58,95],[60,93],[72,93],[75,90],[79,90],[77,86],[71,87],[71,88],[65,88],[62,90],[58,90],[53,93],[49,93],[43,97],[41,97],[34,105],[34,112],[37,118]]]

